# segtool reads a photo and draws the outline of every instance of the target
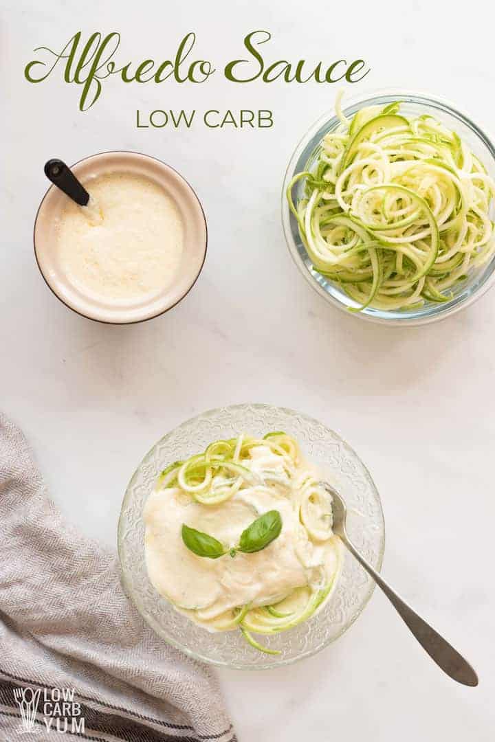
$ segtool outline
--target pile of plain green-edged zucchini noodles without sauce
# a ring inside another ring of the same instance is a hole
[[[361,108],[325,135],[315,170],[287,189],[315,269],[362,311],[445,302],[495,251],[494,180],[433,116]],[[292,187],[304,179],[297,205]]]

